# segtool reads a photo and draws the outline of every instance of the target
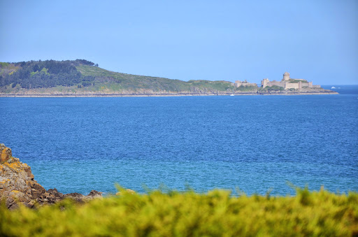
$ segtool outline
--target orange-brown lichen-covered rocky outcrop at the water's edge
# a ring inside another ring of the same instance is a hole
[[[102,193],[95,190],[87,196],[78,193],[62,194],[57,189],[46,190],[34,180],[30,166],[13,157],[11,149],[0,144],[0,199],[6,202],[9,209],[16,208],[19,203],[33,208],[66,198],[83,202],[101,196]]]

